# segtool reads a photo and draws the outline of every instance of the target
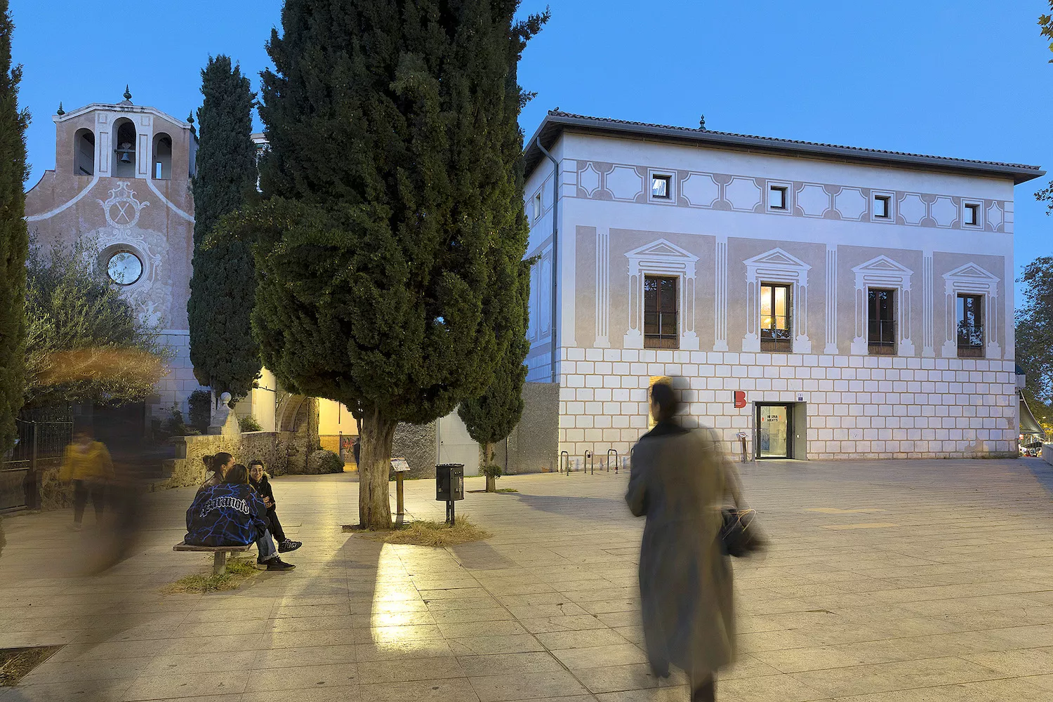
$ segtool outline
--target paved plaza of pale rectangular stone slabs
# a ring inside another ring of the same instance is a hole
[[[740,656],[719,700],[1053,700],[1050,466],[780,461],[742,476],[772,544],[735,561]],[[502,478],[518,494],[458,504],[491,539],[425,548],[343,533],[352,476],[279,478],[305,544],[296,570],[206,596],[160,593],[208,567],[172,551],[192,489],[147,496],[135,555],[93,577],[71,574],[93,530],[72,531],[68,510],[5,518],[0,646],[65,645],[0,702],[686,702],[640,648],[643,521],[627,480]],[[441,520],[434,490],[409,482],[409,510]]]

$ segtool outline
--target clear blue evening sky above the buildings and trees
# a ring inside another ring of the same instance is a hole
[[[523,12],[545,2],[524,0]],[[177,14],[172,7],[178,6]],[[1046,0],[651,2],[553,0],[523,56],[520,82],[544,112],[969,159],[1053,172],[1048,134],[1053,53],[1038,34]],[[277,0],[138,0],[97,12],[82,1],[11,0],[27,187],[55,164],[51,116],[90,102],[133,101],[185,116],[200,104],[200,68],[225,53],[259,84]],[[118,7],[122,7],[118,9]],[[1016,262],[1053,254],[1053,219],[1016,187]],[[1019,296],[1017,296],[1019,298]]]

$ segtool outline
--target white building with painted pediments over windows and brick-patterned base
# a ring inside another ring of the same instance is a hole
[[[1039,168],[550,113],[526,175],[528,380],[559,384],[569,457],[624,456],[660,377],[750,457],[1017,455]]]

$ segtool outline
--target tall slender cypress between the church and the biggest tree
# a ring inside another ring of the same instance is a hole
[[[194,275],[186,313],[191,362],[202,385],[235,399],[252,389],[260,372],[252,336],[255,272],[247,242],[218,237],[204,245],[219,219],[256,193],[256,144],[252,140],[253,94],[249,78],[230,57],[208,59],[201,71],[204,101],[194,192]]]

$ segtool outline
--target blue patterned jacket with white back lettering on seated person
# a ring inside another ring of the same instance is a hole
[[[266,507],[247,483],[220,483],[198,490],[186,510],[183,542],[195,546],[245,546],[269,527]]]

